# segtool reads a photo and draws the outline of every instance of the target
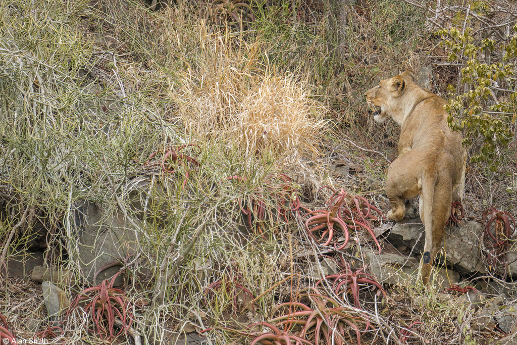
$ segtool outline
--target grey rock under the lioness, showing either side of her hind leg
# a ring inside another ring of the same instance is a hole
[[[458,227],[447,227],[445,231],[445,256],[439,259],[465,274],[485,274],[484,261],[479,253],[479,234],[481,224],[464,221]],[[419,218],[404,219],[398,222],[388,235],[388,241],[395,247],[413,248],[413,256],[420,256],[425,242],[423,224]]]

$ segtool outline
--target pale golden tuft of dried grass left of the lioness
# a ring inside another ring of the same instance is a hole
[[[195,63],[170,97],[191,136],[228,141],[246,155],[267,151],[280,163],[310,158],[326,109],[307,82],[261,63],[261,44],[229,33],[200,32]]]

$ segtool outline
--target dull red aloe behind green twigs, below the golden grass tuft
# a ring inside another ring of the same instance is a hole
[[[226,179],[247,181],[247,177],[238,175]],[[240,211],[246,216],[248,227],[255,229],[257,233],[262,233],[260,222],[266,219],[267,200],[275,203],[277,215],[283,221],[287,221],[288,211],[298,212],[300,208],[298,191],[291,186],[291,178],[285,174],[268,174],[264,178],[264,187],[253,190],[245,202],[238,199]]]

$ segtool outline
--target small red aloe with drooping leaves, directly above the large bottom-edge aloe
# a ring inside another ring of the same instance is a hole
[[[315,286],[317,287],[319,284],[322,284],[324,280],[333,280],[332,290],[334,293],[341,295],[343,292],[351,292],[354,297],[354,304],[357,308],[361,307],[361,302],[359,301],[360,284],[371,284],[386,296],[386,291],[384,291],[381,284],[379,284],[371,275],[364,272],[364,268],[357,269],[353,272],[348,263],[345,262],[345,265],[346,266],[343,271],[338,274],[326,276],[324,279],[317,281]]]

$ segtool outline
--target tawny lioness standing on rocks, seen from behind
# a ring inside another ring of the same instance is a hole
[[[447,125],[445,100],[415,84],[411,70],[382,80],[365,95],[376,122],[391,117],[402,126],[399,156],[390,164],[386,180],[391,203],[388,218],[402,220],[406,201],[420,196],[425,227],[420,274],[428,284],[432,263],[442,248],[451,202],[463,198],[467,154],[461,134]]]

